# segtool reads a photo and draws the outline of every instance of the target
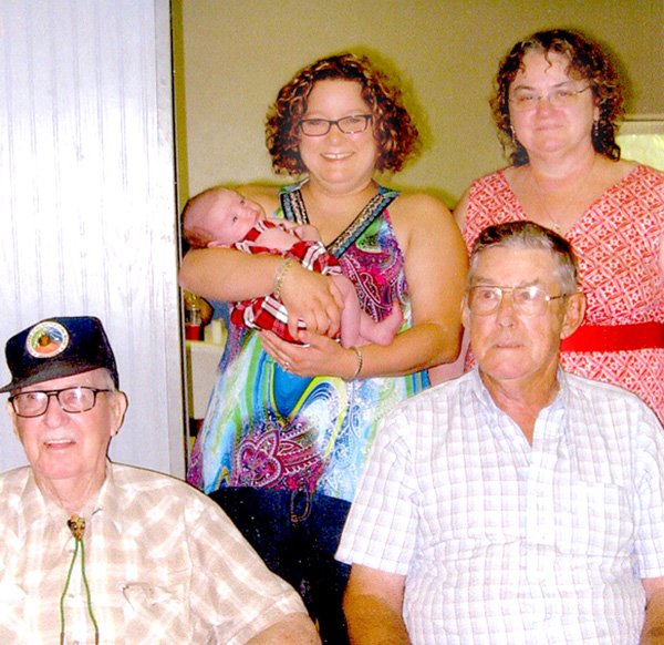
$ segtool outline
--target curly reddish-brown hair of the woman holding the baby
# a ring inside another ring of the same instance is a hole
[[[300,70],[277,95],[266,121],[266,145],[278,173],[301,174],[300,121],[307,100],[318,81],[354,81],[373,115],[373,135],[378,146],[377,171],[401,171],[419,145],[419,133],[403,104],[402,92],[366,57],[343,53],[320,59]]]

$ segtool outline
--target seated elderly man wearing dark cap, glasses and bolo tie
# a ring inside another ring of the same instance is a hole
[[[111,463],[127,399],[101,321],[7,342],[29,467],[0,475],[1,643],[318,643],[298,594],[205,495]]]

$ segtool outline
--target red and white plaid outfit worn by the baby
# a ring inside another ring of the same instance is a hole
[[[269,228],[282,228],[293,236],[293,245],[288,250],[276,250],[264,246],[250,244],[257,237]],[[280,226],[279,222],[273,219],[260,219],[256,226],[247,234],[242,242],[232,245],[238,250],[249,254],[270,253],[282,255],[297,259],[305,269],[323,275],[342,275],[339,260],[328,253],[322,242],[305,242],[297,237],[293,231]],[[281,300],[273,295],[262,298],[252,298],[232,303],[230,306],[230,320],[238,327],[248,327],[250,329],[264,329],[273,331],[288,342],[300,342],[293,338],[288,329],[288,309]],[[304,329],[304,324],[300,320],[298,326]]]

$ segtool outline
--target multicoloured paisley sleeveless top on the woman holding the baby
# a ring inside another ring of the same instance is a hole
[[[381,187],[328,250],[375,320],[401,304],[403,330],[412,326],[411,300],[387,211],[397,195]],[[276,217],[308,223],[300,184],[282,188],[280,198]],[[426,371],[352,382],[301,378],[281,370],[256,331],[231,325],[188,480],[205,492],[252,487],[352,501],[378,421],[427,386]]]

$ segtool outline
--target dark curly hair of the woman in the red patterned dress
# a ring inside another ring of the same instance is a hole
[[[512,135],[509,115],[509,88],[520,70],[523,58],[529,52],[562,54],[570,61],[569,70],[590,83],[600,119],[592,131],[592,145],[595,152],[610,160],[620,160],[620,147],[615,143],[619,122],[624,113],[624,99],[615,65],[602,48],[578,31],[551,29],[538,31],[515,44],[500,61],[496,75],[495,94],[490,101],[494,120],[505,150],[510,150],[510,161],[515,165],[528,163],[528,152]]]

